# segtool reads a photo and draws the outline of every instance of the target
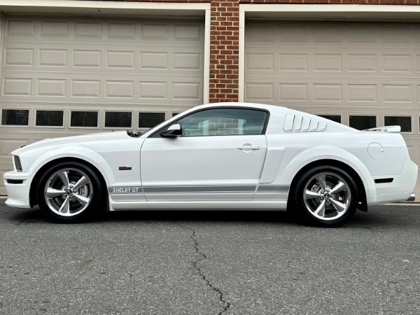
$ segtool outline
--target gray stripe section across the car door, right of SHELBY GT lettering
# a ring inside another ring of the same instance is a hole
[[[153,186],[144,193],[252,193],[257,186]]]

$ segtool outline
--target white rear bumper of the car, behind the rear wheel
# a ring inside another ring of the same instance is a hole
[[[367,205],[384,204],[386,202],[400,202],[407,201],[414,196],[414,186],[417,180],[417,165],[412,162],[407,156],[402,166],[400,174],[395,174],[391,177],[391,183],[375,183],[375,179],[384,176],[370,176],[367,181],[370,181],[371,194],[366,196]],[[415,196],[414,196],[415,197]]]

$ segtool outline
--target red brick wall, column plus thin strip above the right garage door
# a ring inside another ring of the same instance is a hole
[[[104,0],[105,1],[105,0]],[[114,0],[115,1],[115,0]],[[117,0],[211,2],[210,102],[237,102],[239,83],[239,3],[406,4],[420,0]]]

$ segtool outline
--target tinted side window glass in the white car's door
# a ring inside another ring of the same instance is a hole
[[[207,109],[178,120],[183,137],[262,134],[265,111],[254,109]]]

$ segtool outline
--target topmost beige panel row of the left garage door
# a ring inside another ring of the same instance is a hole
[[[139,23],[94,20],[85,18],[80,20],[44,17],[41,20],[32,18],[12,18],[6,20],[5,40],[8,38],[22,38],[27,41],[36,41],[42,38],[48,40],[65,38],[67,41],[123,43],[124,45],[136,45],[141,41],[143,44],[155,43],[160,45],[165,42],[203,43],[204,32],[202,22],[179,22],[174,20],[147,20]]]

